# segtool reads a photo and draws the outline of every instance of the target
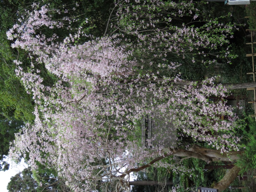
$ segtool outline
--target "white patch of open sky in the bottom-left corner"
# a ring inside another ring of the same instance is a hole
[[[9,159],[8,159],[8,163],[10,164],[9,170],[7,170],[5,172],[0,171],[0,180],[1,180],[0,191],[1,192],[8,192],[6,187],[7,187],[7,184],[9,183],[11,177],[28,167],[28,165],[24,163],[24,159],[22,159],[20,164],[15,164],[15,163],[11,162],[11,160],[9,160]]]

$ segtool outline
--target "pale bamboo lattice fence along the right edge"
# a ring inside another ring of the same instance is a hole
[[[254,65],[254,56],[256,56],[256,53],[254,53],[254,47],[253,45],[256,44],[256,42],[253,42],[252,38],[252,30],[251,29],[246,29],[246,31],[251,32],[251,42],[246,43],[247,45],[251,45],[252,47],[252,53],[246,54],[246,57],[252,57],[252,72],[247,73],[247,75],[252,75],[253,76],[253,82],[255,82],[255,65]],[[250,87],[247,88],[247,90],[253,91],[254,92],[254,100],[253,101],[248,101],[248,103],[254,104],[254,115],[250,115],[251,117],[255,117],[256,121],[256,87]]]

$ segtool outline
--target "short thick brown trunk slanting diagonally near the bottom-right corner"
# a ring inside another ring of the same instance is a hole
[[[236,179],[240,170],[239,167],[234,166],[213,188],[219,189],[219,192],[225,190]]]

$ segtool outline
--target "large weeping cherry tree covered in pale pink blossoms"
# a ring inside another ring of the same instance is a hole
[[[233,25],[219,25],[216,20],[200,28],[175,25],[173,20],[184,15],[196,20],[198,10],[193,2],[119,1],[104,37],[85,34],[80,27],[60,40],[43,31],[65,28],[65,22],[76,20],[53,20],[53,13],[58,12],[34,4],[7,33],[13,48],[30,55],[29,70],[19,67],[21,61],[14,62],[17,76],[36,103],[35,123],[16,135],[12,158],[26,157],[34,170],[40,164],[54,168],[74,191],[99,190],[109,182],[116,191],[129,191],[132,172],[153,164],[175,168],[161,161],[172,156],[207,163],[238,158],[239,152],[232,151],[239,149],[239,138],[233,132],[239,127],[237,117],[221,100],[210,100],[225,97],[227,88],[215,85],[214,78],[177,86],[182,80],[176,68],[182,63],[169,58],[171,54],[185,57],[190,51],[193,56],[203,53],[201,49],[217,50],[227,43]],[[91,40],[80,42],[83,36]],[[227,52],[219,54],[228,56]],[[57,77],[55,84],[44,83],[37,69],[42,64]],[[158,132],[147,143],[157,140],[158,145],[143,148],[136,133],[140,135],[140,121],[146,115],[161,118],[184,136],[216,149],[177,148],[176,142],[166,146],[157,138],[172,140],[170,130],[157,125]]]

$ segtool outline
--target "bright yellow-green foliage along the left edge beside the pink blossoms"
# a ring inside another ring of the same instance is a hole
[[[2,2],[1,2],[2,3]],[[6,118],[15,118],[24,122],[33,122],[33,102],[16,77],[13,60],[19,57],[26,61],[26,53],[12,50],[6,31],[14,24],[15,10],[7,1],[0,6],[0,114]],[[30,65],[24,62],[24,66]]]

